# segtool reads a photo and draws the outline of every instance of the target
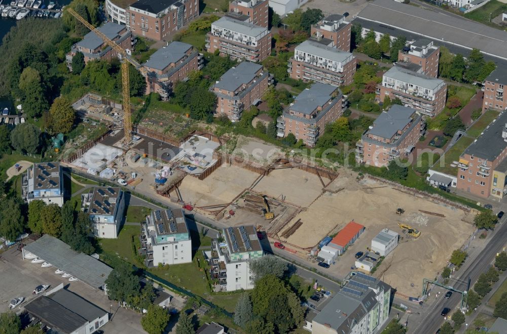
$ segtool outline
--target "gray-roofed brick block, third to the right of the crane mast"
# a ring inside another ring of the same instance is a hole
[[[302,139],[307,146],[315,146],[325,126],[343,113],[343,94],[335,86],[315,82],[301,92],[276,120],[277,136],[289,133]]]

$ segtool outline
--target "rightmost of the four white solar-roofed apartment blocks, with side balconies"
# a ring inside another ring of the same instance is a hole
[[[225,291],[253,288],[249,262],[264,256],[253,225],[222,230],[224,242],[213,241],[210,274]]]

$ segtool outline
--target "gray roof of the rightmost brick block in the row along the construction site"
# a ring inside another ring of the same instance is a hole
[[[412,115],[415,112],[415,109],[395,104],[375,119],[373,128],[368,130],[367,134],[381,138],[392,138],[412,121]]]

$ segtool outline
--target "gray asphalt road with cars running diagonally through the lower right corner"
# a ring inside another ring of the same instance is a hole
[[[469,263],[465,260],[462,266],[462,273],[459,274],[457,279],[451,282],[451,285],[460,291],[463,291],[467,287],[468,278],[471,282],[470,287],[477,281],[479,275],[485,272],[494,260],[496,253],[500,252],[502,247],[505,245],[507,240],[507,224],[503,219],[502,225],[495,232],[491,240],[486,244],[483,251],[479,256],[473,260],[469,260]],[[437,250],[436,250],[437,251]],[[444,317],[441,315],[444,307],[451,309],[448,316],[451,316],[455,311],[455,308],[461,303],[461,295],[459,293],[453,293],[450,299],[444,299],[444,294],[440,294],[437,303],[433,304],[431,310],[424,316],[422,320],[414,320],[417,323],[417,327],[409,330],[411,334],[427,334],[436,332],[442,323]],[[409,322],[410,328],[410,322]]]

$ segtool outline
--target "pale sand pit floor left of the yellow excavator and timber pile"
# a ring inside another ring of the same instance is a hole
[[[202,181],[187,176],[179,191],[184,201],[194,206],[228,203],[258,177],[258,174],[240,167],[222,165]]]

